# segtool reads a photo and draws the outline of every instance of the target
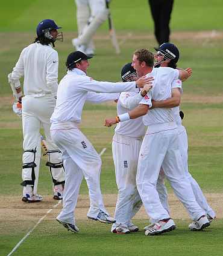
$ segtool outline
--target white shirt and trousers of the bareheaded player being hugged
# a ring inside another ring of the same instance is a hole
[[[149,76],[154,77],[153,87],[149,92],[150,99],[169,99],[172,95],[171,84],[178,78],[179,71],[168,67],[153,68]],[[143,100],[140,103],[148,104]],[[172,108],[149,110],[143,116],[143,123],[148,128],[139,153],[136,184],[147,214],[154,220],[169,218],[156,189],[162,167],[190,217],[198,220],[205,212],[196,203],[190,183],[185,177],[178,146],[178,128]]]

